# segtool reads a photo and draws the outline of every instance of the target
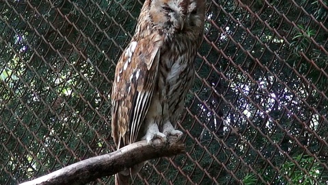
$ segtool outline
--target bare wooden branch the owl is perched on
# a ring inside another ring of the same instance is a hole
[[[154,158],[184,153],[184,144],[176,136],[169,136],[169,143],[154,140],[154,147],[146,140],[133,143],[118,151],[83,160],[20,185],[31,184],[87,184],[100,177],[114,175],[140,162]]]

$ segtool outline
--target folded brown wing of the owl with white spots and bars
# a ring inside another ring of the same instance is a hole
[[[163,38],[158,34],[132,41],[116,66],[111,136],[118,149],[137,139],[152,99],[162,45]]]

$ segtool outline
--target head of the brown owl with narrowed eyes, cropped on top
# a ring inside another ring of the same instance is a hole
[[[150,0],[149,16],[157,29],[174,34],[202,29],[205,0]]]

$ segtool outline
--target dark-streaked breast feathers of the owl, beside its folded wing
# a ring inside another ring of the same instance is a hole
[[[184,97],[193,84],[195,76],[196,40],[176,36],[166,40],[161,50],[159,62],[158,90],[160,99],[164,101],[163,119],[176,124],[184,107]],[[195,38],[195,37],[194,37]],[[167,118],[165,118],[167,116]]]

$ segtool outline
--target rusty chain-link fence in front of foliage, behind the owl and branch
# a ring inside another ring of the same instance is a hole
[[[142,3],[0,0],[0,184],[113,151],[115,63]],[[327,184],[327,19],[327,0],[207,0],[187,153],[132,183]]]

